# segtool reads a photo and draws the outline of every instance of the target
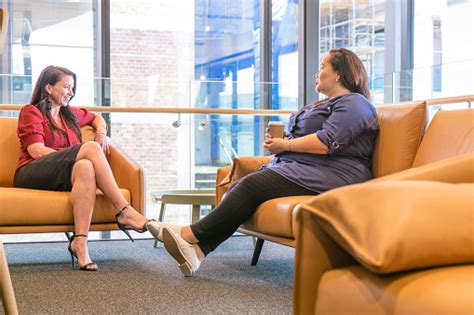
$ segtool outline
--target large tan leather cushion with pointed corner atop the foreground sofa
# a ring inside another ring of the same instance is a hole
[[[474,262],[474,184],[386,181],[334,189],[303,207],[355,259],[390,273]]]

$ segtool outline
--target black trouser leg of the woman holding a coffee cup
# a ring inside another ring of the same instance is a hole
[[[274,198],[299,195],[316,193],[270,169],[264,169],[244,177],[211,213],[191,225],[191,230],[199,240],[199,247],[207,255],[232,236],[261,203]]]

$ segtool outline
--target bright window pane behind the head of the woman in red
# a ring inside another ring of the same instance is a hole
[[[2,93],[7,103],[26,104],[31,88],[44,67],[54,64],[78,76],[76,104],[92,104],[94,89],[94,13],[89,1],[12,1],[9,59],[3,73],[11,73],[13,89]],[[87,78],[87,80],[86,80]],[[82,79],[82,80],[81,80]],[[4,83],[5,84],[5,83]]]

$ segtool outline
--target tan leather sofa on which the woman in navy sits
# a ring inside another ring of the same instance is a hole
[[[425,102],[395,104],[377,108],[380,132],[377,138],[373,174],[375,178],[396,173],[413,166],[415,154],[427,124]],[[271,157],[236,158],[231,166],[217,171],[216,204],[229,186],[239,178],[268,163]],[[429,163],[419,159],[418,165]],[[301,202],[312,196],[284,197],[269,200],[259,206],[254,216],[239,231],[257,238],[252,265],[258,261],[264,240],[295,247],[296,215]]]

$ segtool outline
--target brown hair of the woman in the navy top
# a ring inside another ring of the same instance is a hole
[[[331,49],[329,62],[334,71],[339,73],[345,88],[370,100],[369,77],[364,64],[355,53],[345,48]]]

